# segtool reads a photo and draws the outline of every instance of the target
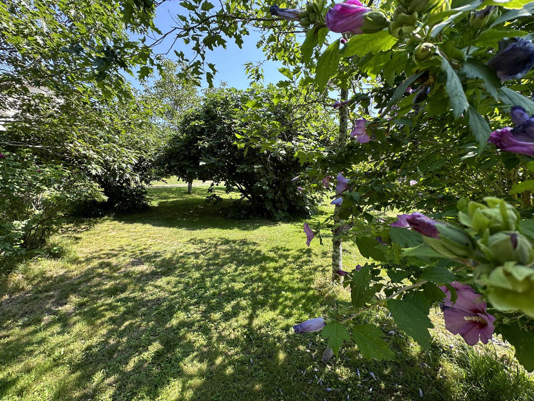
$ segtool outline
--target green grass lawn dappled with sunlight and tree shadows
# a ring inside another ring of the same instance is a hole
[[[307,248],[303,221],[225,219],[206,188],[151,188],[147,212],[70,222],[61,257],[4,268],[0,400],[534,399],[511,347],[462,345],[438,310],[429,353],[381,309],[359,322],[395,361],[345,344],[323,363],[326,342],[292,325],[348,297],[329,284],[329,238]],[[344,245],[346,268],[364,261]]]

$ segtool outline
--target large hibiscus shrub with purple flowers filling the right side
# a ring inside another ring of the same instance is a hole
[[[385,306],[428,349],[428,313],[439,304],[445,327],[467,344],[502,334],[534,370],[534,220],[521,218],[532,215],[534,189],[534,6],[398,0],[372,10],[347,1],[322,7],[326,24],[309,8],[300,14],[312,21],[303,52],[321,48],[312,37],[325,25],[342,34],[319,56],[315,83],[352,82],[353,101],[333,106],[349,108],[355,140],[318,156],[308,173],[325,190],[324,177],[336,176],[337,220],[304,232],[310,245],[328,227],[372,260],[337,271],[350,304],[328,311],[324,327],[315,318],[295,331],[320,330],[334,352],[352,338],[364,356],[388,359],[381,330],[355,318]],[[358,92],[364,79],[371,84]],[[508,112],[513,128],[502,128]],[[371,213],[391,207],[404,212],[396,221]]]

